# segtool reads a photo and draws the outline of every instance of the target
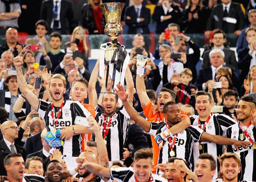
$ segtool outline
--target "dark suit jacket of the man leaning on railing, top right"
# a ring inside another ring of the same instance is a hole
[[[207,21],[206,31],[212,31],[214,29],[223,29],[223,5],[217,4],[212,9],[212,13]],[[234,33],[236,30],[242,30],[244,27],[244,15],[240,4],[231,3],[228,17],[237,19],[237,23],[227,23],[227,32]]]

